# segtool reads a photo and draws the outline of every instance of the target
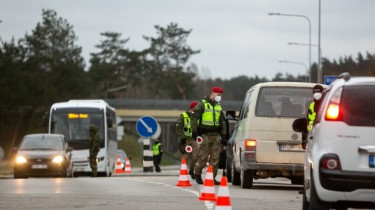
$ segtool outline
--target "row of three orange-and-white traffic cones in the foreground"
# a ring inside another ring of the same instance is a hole
[[[178,187],[190,187],[190,181],[188,177],[188,171],[186,166],[186,159],[182,158],[180,177],[177,185]],[[217,197],[215,195],[214,179],[212,173],[212,166],[209,165],[206,172],[206,178],[204,179],[203,189],[199,200],[203,201],[216,201],[215,209],[220,210],[231,210],[231,202],[229,197],[229,188],[227,177],[223,176],[220,181],[219,191]]]

